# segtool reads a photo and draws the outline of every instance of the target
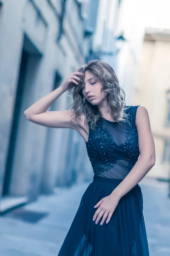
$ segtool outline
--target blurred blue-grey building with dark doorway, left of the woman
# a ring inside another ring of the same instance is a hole
[[[3,211],[11,204],[34,201],[40,192],[50,194],[55,186],[70,186],[90,175],[88,156],[82,154],[85,143],[82,144],[77,131],[28,122],[24,111],[85,63],[93,33],[88,33],[85,26],[87,1],[0,3],[0,211]],[[68,103],[65,92],[48,110],[66,110]]]

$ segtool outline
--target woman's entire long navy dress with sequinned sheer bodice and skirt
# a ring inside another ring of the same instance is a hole
[[[149,256],[142,191],[137,184],[119,201],[111,220],[93,221],[97,204],[130,172],[139,158],[136,111],[127,106],[130,123],[101,118],[89,129],[86,148],[94,171],[58,256]],[[137,171],[137,170],[136,170]]]

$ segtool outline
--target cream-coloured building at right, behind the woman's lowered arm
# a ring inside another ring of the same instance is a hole
[[[170,30],[147,28],[134,105],[144,105],[156,147],[156,164],[147,176],[170,179]]]

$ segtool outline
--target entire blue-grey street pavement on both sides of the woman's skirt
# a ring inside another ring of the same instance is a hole
[[[0,217],[0,255],[57,256],[80,199],[88,187],[81,183],[56,189],[51,196]],[[165,183],[142,180],[144,218],[150,256],[170,255],[170,199]]]

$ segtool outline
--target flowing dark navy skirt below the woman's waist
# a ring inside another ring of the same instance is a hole
[[[97,224],[93,221],[97,210],[94,205],[110,195],[121,181],[93,178],[82,195],[58,256],[149,256],[139,184],[120,199],[108,224],[100,225],[102,218]]]

